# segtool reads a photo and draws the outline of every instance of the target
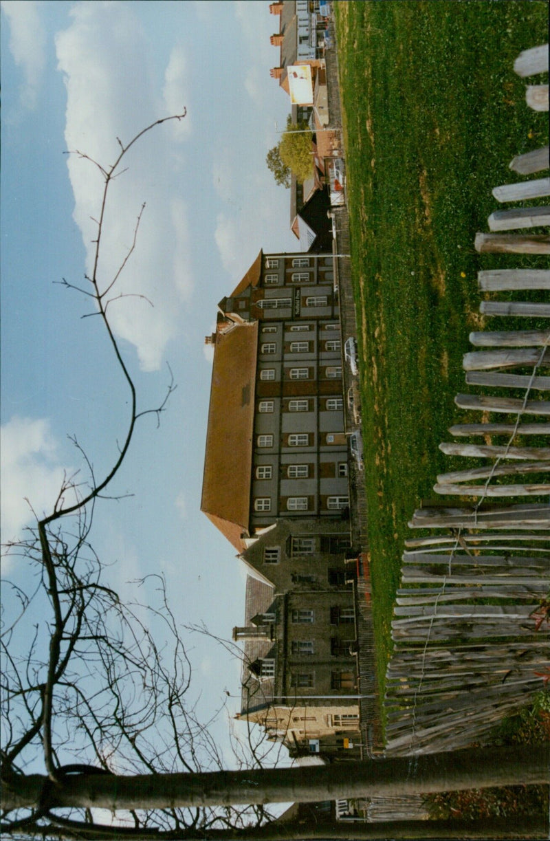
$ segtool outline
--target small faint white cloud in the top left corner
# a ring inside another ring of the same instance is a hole
[[[3,0],[2,10],[9,21],[9,50],[24,73],[21,104],[34,109],[45,68],[45,29],[40,19],[40,3],[35,0]]]

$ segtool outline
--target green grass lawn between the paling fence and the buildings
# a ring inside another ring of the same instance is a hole
[[[468,390],[468,332],[484,326],[477,272],[545,265],[479,256],[473,238],[497,209],[491,189],[516,178],[512,157],[547,143],[547,114],[526,107],[526,80],[513,71],[521,50],[547,40],[547,3],[335,7],[383,686],[403,543],[419,536],[407,521],[436,497],[436,473],[468,466],[439,452],[448,426],[479,421],[453,404]]]

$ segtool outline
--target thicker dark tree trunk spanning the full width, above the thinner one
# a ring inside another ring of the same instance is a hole
[[[341,797],[401,796],[493,785],[550,781],[550,745],[474,748],[447,754],[373,759],[291,769],[216,771],[209,774],[40,775],[11,777],[2,808],[87,807],[167,809],[315,802]],[[43,784],[43,787],[42,787]]]

